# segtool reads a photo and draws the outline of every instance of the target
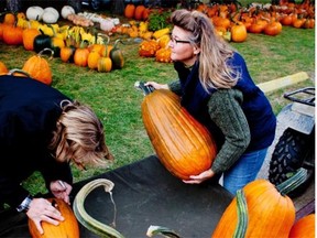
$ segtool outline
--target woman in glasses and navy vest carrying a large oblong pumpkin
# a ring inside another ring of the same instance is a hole
[[[182,106],[217,141],[211,167],[184,182],[199,184],[223,174],[223,186],[236,194],[256,177],[273,142],[276,118],[243,57],[215,33],[204,13],[182,9],[171,20],[174,28],[168,45],[179,79],[145,85],[179,95]]]

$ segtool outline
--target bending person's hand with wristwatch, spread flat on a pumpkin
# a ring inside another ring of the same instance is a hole
[[[50,201],[45,198],[33,198],[30,203],[26,215],[30,219],[34,221],[41,235],[44,232],[41,226],[42,220],[53,224],[55,226],[57,226],[59,221],[64,220],[64,217],[62,216],[59,210],[56,209],[52,205],[52,203],[50,203]]]

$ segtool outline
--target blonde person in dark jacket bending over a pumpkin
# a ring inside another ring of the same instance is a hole
[[[21,183],[39,171],[52,196],[69,204],[69,163],[83,169],[112,160],[102,125],[90,108],[33,78],[9,75],[0,78],[0,215],[4,218],[6,212],[17,209],[21,217],[24,212],[41,234],[41,221],[58,225],[64,218],[47,199],[33,197]],[[11,209],[4,209],[4,204]],[[7,220],[2,218],[3,231]]]

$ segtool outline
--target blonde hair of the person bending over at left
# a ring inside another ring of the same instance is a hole
[[[105,142],[102,123],[89,107],[63,100],[61,108],[63,111],[50,143],[57,161],[106,165],[105,159],[113,160]]]

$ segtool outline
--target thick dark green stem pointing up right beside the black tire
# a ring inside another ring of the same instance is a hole
[[[307,178],[307,170],[300,167],[296,171],[296,173],[293,176],[291,176],[283,183],[276,185],[276,190],[284,196],[294,191],[300,184],[303,184],[306,181],[306,178]]]

